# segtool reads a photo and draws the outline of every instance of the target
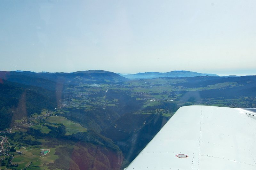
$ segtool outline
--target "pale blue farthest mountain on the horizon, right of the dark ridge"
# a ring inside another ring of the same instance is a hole
[[[196,73],[190,71],[171,71],[167,73],[159,72],[146,72],[146,73],[137,73],[137,74],[120,74],[119,75],[128,78],[128,79],[152,79],[158,77],[197,77],[197,76],[218,76],[217,74],[208,74],[208,73]]]

